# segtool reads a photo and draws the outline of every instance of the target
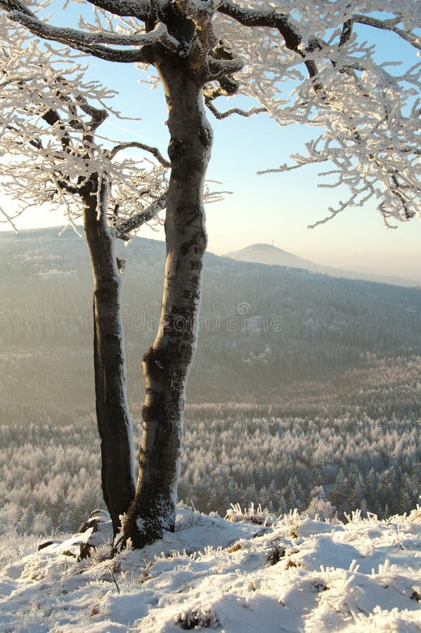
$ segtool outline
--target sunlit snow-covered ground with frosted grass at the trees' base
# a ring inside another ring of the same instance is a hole
[[[180,509],[174,534],[112,560],[78,562],[82,538],[1,565],[0,631],[421,631],[420,508],[271,528]]]

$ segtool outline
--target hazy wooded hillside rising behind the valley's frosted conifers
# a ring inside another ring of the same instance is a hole
[[[86,245],[58,229],[0,234],[0,393],[4,403],[93,402],[91,269]],[[129,397],[160,312],[164,244],[127,248],[122,312]],[[294,382],[337,381],[421,352],[421,290],[207,255],[190,402],[277,402]],[[304,397],[307,388],[300,388]],[[76,399],[76,400],[75,400]],[[1,422],[1,420],[0,420]]]

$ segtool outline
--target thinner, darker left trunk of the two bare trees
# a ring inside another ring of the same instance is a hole
[[[101,439],[101,479],[114,534],[134,499],[131,418],[121,322],[121,275],[106,217],[107,186],[93,174],[86,184],[84,230],[93,273],[93,362],[96,418]]]

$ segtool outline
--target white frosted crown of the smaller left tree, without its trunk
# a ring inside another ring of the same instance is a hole
[[[167,189],[168,162],[150,146],[112,141],[110,150],[110,141],[101,139],[98,128],[108,114],[103,101],[113,93],[86,81],[68,49],[41,53],[5,15],[0,15],[0,42],[0,177],[15,200],[6,220],[13,223],[23,211],[48,203],[51,210],[65,210],[74,224],[93,175],[109,184],[112,224],[148,209]],[[140,145],[153,156],[112,160],[124,148]]]

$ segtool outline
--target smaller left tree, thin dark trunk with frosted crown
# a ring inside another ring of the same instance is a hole
[[[0,16],[0,32],[7,20]],[[143,143],[119,143],[107,149],[96,141],[108,111],[98,108],[112,94],[101,84],[86,82],[80,66],[63,72],[53,68],[71,51],[54,53],[41,63],[37,44],[28,43],[22,29],[11,29],[3,42],[0,71],[3,184],[11,196],[27,205],[48,202],[64,206],[70,224],[81,216],[93,272],[93,364],[96,416],[101,437],[102,489],[114,532],[119,516],[134,498],[135,468],[132,424],[126,394],[124,335],[120,314],[124,262],[115,255],[115,238],[155,218],[165,207],[169,162]],[[22,76],[22,68],[25,75]],[[94,106],[93,102],[97,105]],[[129,148],[152,153],[148,160],[123,160]],[[3,211],[14,226],[13,217]]]

